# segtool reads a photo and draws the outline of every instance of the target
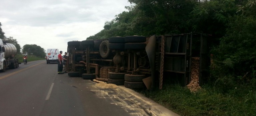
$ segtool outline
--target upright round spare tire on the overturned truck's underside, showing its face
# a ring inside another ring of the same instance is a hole
[[[110,54],[108,40],[104,40],[104,41],[101,42],[99,51],[100,51],[100,56],[102,58],[107,58],[108,57],[108,55]]]

